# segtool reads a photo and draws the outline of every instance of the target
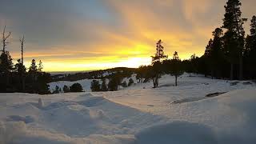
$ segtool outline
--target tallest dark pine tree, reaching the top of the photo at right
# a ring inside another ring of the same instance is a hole
[[[243,29],[244,20],[241,18],[241,2],[239,0],[228,0],[226,2],[226,14],[223,18],[222,28],[225,33],[225,50],[230,60],[230,79],[234,79],[234,64],[239,64],[239,79],[242,80],[242,51],[244,49]]]

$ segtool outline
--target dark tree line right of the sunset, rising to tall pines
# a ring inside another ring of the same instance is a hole
[[[158,79],[162,74],[171,74],[175,76],[177,86],[177,78],[183,72],[230,80],[255,79],[256,16],[251,18],[250,34],[245,36],[243,25],[247,19],[242,18],[241,6],[239,0],[226,2],[223,24],[212,32],[213,38],[210,38],[201,57],[193,54],[190,59],[182,61],[175,51],[173,58],[168,58],[164,54],[162,40],[159,40],[151,65],[138,68],[139,82],[148,82],[151,79],[155,88],[158,87]]]

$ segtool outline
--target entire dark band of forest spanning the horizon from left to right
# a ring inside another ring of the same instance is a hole
[[[118,85],[123,85],[122,78],[129,78],[131,74],[137,74],[139,82],[152,80],[154,88],[158,87],[158,79],[162,74],[175,76],[175,86],[178,84],[178,76],[186,73],[204,74],[211,78],[222,78],[230,80],[244,80],[256,78],[256,16],[250,20],[250,34],[246,35],[242,18],[242,3],[239,0],[228,0],[226,2],[222,26],[214,29],[213,37],[206,46],[205,54],[201,57],[195,54],[190,59],[181,60],[175,51],[172,58],[164,53],[162,40],[156,43],[156,53],[151,56],[150,66],[140,66],[138,69],[114,68],[110,70],[97,70],[88,73],[54,75],[43,72],[42,62],[38,65],[33,59],[31,66],[27,69],[23,64],[24,37],[21,42],[21,59],[14,65],[6,46],[11,33],[6,33],[4,27],[2,33],[2,52],[0,56],[0,92],[26,92],[36,94],[50,94],[48,82],[53,81],[77,81],[80,79],[110,79],[109,88],[99,86],[98,82],[92,82],[97,91],[116,90]],[[104,76],[105,72],[109,72]],[[112,82],[112,83],[111,83]],[[112,88],[110,89],[110,86]],[[93,87],[94,89],[94,87]]]

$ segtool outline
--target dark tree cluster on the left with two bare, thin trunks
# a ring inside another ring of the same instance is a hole
[[[6,33],[6,26],[2,32],[2,50],[0,55],[0,92],[26,92],[34,94],[49,94],[50,74],[43,72],[41,60],[36,62],[31,61],[29,68],[24,65],[23,48],[24,36],[20,39],[21,42],[21,58],[14,64],[13,58],[6,46],[9,44],[8,38],[11,33]]]

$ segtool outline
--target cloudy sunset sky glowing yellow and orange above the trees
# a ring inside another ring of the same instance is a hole
[[[150,63],[162,39],[166,54],[202,55],[211,32],[222,26],[226,0],[4,0],[0,30],[11,31],[7,50],[26,66],[42,60],[46,71],[98,70]],[[256,14],[242,0],[243,18]],[[250,22],[246,23],[246,31]],[[248,34],[248,33],[247,33]]]

